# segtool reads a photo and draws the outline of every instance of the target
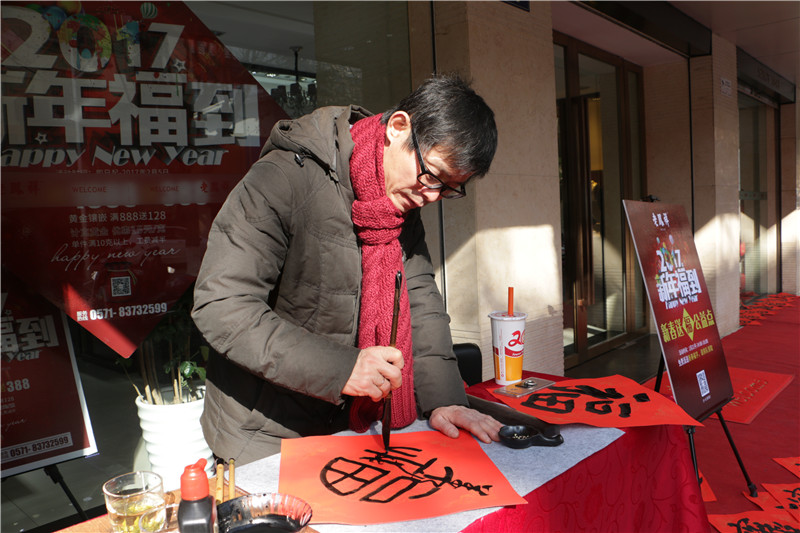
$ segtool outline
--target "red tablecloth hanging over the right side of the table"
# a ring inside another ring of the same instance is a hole
[[[563,380],[563,377],[525,372]],[[487,381],[467,389],[494,400]],[[470,524],[465,533],[707,532],[711,531],[682,426],[630,428],[603,450],[506,507]]]

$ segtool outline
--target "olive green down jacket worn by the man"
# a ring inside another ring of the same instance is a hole
[[[277,453],[281,438],[347,427],[341,391],[359,353],[361,287],[350,125],[368,115],[327,107],[276,124],[212,224],[192,316],[218,352],[201,419],[218,457],[243,464]],[[419,210],[400,242],[417,409],[427,416],[467,402]]]

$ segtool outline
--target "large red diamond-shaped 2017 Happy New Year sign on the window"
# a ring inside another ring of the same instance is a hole
[[[3,266],[128,357],[285,113],[182,2],[2,5]]]

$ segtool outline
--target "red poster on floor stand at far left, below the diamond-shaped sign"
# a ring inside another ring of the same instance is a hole
[[[64,315],[3,270],[2,476],[97,452]]]

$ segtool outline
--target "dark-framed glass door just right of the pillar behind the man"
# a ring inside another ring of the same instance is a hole
[[[641,197],[640,73],[556,37],[565,367],[646,325],[622,199]]]

